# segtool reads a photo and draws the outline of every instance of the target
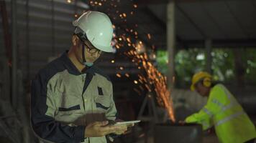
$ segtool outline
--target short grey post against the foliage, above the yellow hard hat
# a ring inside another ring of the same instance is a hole
[[[212,41],[211,39],[206,39],[205,41],[206,46],[206,71],[212,74],[211,72],[211,64],[212,64],[212,57],[211,57],[211,51],[212,51]]]

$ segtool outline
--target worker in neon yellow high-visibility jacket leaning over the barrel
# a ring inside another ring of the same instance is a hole
[[[187,117],[185,122],[202,124],[204,130],[214,126],[222,143],[255,142],[255,125],[223,84],[212,83],[211,74],[204,71],[194,74],[191,90],[208,97],[208,101],[203,109]]]

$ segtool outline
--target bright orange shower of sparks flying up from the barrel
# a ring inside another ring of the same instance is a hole
[[[70,0],[71,1],[71,0]],[[131,4],[131,11],[124,11],[123,9],[119,9],[120,0],[89,0],[88,4],[92,7],[100,7],[106,6],[106,14],[111,16],[111,19],[114,21],[119,21],[124,23],[123,26],[120,25],[112,25],[114,31],[118,29],[117,33],[113,34],[113,46],[116,51],[124,52],[124,55],[128,56],[132,62],[137,66],[140,70],[145,70],[146,74],[138,74],[138,79],[134,80],[134,84],[139,87],[139,89],[134,88],[134,91],[138,94],[142,94],[142,91],[147,89],[148,92],[154,92],[157,94],[157,102],[160,106],[165,107],[168,111],[168,115],[170,119],[175,122],[174,111],[173,111],[173,102],[170,97],[170,92],[167,87],[167,78],[163,76],[154,66],[154,64],[150,61],[155,59],[155,54],[147,55],[146,49],[150,47],[145,47],[142,41],[140,41],[140,34],[136,31],[138,28],[138,24],[126,24],[127,20],[131,19],[131,16],[136,14],[138,5]],[[128,25],[130,27],[128,27]],[[132,27],[133,26],[133,27]],[[124,33],[120,32],[124,31]],[[146,34],[147,39],[151,40],[152,35]],[[124,47],[127,47],[124,50]],[[155,50],[155,45],[152,45],[152,51]],[[114,60],[111,60],[111,63],[114,63]],[[116,69],[123,70],[124,66],[116,67]],[[130,75],[128,73],[124,74],[125,77],[129,78]],[[122,78],[120,73],[116,73],[116,77]],[[173,79],[175,80],[175,79]]]

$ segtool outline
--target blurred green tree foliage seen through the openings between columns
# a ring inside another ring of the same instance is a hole
[[[229,84],[234,84],[235,62],[233,49],[213,49],[211,52],[214,80]],[[244,49],[241,54],[242,64],[246,73],[244,75],[245,83],[256,84],[256,49]],[[167,51],[157,51],[157,68],[167,74],[168,70]],[[188,88],[191,83],[191,77],[197,71],[203,71],[206,67],[206,54],[204,49],[180,50],[175,54],[175,81],[176,87]]]

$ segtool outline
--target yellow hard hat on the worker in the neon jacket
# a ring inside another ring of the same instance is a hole
[[[206,79],[204,80],[204,86],[210,87],[211,86],[211,74],[209,74],[206,71],[199,71],[198,73],[194,74],[192,77],[192,84],[191,84],[191,90],[195,90],[195,84],[199,82],[201,79]]]

